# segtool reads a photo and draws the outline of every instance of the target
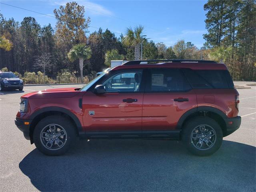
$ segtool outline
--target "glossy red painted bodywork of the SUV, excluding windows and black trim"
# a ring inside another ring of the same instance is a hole
[[[224,64],[202,63],[122,65],[112,70],[149,67],[227,70]],[[82,92],[75,88],[50,89],[22,96],[28,99],[28,112],[18,112],[17,117],[30,119],[30,116],[37,110],[57,106],[76,115],[84,131],[173,130],[176,129],[178,120],[185,112],[198,106],[211,106],[221,110],[229,118],[236,117],[238,109],[235,95],[239,95],[235,89],[105,94]],[[82,98],[82,109],[78,105],[80,98]],[[127,98],[138,101],[123,102],[123,99]],[[176,102],[175,98],[188,98],[189,101]],[[90,115],[89,111],[93,111],[94,115]]]

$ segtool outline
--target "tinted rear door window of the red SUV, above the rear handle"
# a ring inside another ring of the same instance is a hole
[[[151,69],[148,92],[187,91],[191,87],[180,69]]]

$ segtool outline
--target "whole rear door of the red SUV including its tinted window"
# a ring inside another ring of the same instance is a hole
[[[168,134],[186,111],[196,108],[196,94],[180,69],[150,69],[147,77],[142,134]]]

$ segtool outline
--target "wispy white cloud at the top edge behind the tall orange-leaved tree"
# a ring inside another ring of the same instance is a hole
[[[62,6],[65,6],[67,2],[70,2],[70,0],[46,0],[46,1],[54,5],[62,5]],[[79,5],[84,6],[86,12],[92,15],[110,15],[110,16],[114,15],[113,12],[111,12],[110,10],[108,10],[107,8],[105,8],[100,4],[96,4],[88,0],[76,0],[76,2]]]

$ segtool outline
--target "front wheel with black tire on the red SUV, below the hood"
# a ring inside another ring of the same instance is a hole
[[[74,142],[75,137],[75,126],[62,116],[43,118],[38,122],[33,133],[36,148],[48,156],[64,154]]]

